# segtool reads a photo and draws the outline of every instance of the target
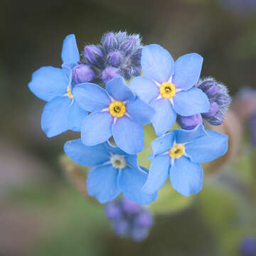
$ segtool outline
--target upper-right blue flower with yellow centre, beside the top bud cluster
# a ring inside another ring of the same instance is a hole
[[[197,53],[183,55],[174,63],[171,54],[159,45],[142,49],[144,76],[134,78],[129,86],[156,110],[152,120],[156,135],[171,129],[176,114],[188,117],[208,112],[208,97],[193,87],[200,77],[202,63],[203,58]]]

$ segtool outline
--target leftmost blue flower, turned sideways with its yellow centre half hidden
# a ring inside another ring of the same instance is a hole
[[[62,69],[43,67],[36,70],[28,87],[34,95],[45,100],[41,117],[41,127],[48,137],[53,137],[68,129],[80,131],[82,119],[87,115],[73,97],[72,68],[79,61],[78,47],[74,35],[63,41],[61,53]]]

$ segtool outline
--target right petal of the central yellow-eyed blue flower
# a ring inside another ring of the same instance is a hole
[[[145,102],[136,98],[133,102],[129,102],[126,105],[127,113],[132,118],[134,122],[138,124],[150,124],[151,120],[156,113],[153,107],[150,107]]]

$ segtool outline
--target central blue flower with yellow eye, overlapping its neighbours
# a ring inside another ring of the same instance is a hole
[[[84,110],[92,112],[82,122],[81,139],[86,146],[114,142],[128,154],[137,154],[144,147],[144,129],[154,116],[154,109],[136,97],[124,82],[114,78],[106,90],[93,83],[76,85],[75,100]]]

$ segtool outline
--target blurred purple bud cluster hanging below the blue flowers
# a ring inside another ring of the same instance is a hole
[[[154,222],[149,210],[125,197],[107,203],[105,214],[117,235],[135,241],[144,240]]]

